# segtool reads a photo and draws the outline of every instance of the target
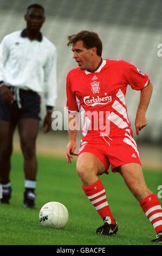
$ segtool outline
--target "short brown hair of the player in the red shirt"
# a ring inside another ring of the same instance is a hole
[[[68,40],[69,41],[67,46],[75,44],[75,42],[82,40],[83,46],[86,49],[96,47],[98,56],[101,57],[102,55],[102,42],[101,42],[101,39],[99,38],[99,35],[95,32],[86,31],[86,30],[80,31],[80,32],[77,32],[76,34],[68,35]]]

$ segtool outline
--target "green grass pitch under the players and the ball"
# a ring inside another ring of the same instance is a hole
[[[157,194],[161,172],[144,170],[144,175],[147,186]],[[100,178],[119,225],[118,234],[112,237],[95,234],[102,220],[82,191],[75,161],[67,164],[64,159],[39,156],[37,210],[24,209],[23,158],[21,154],[14,154],[10,205],[0,205],[0,245],[152,245],[150,240],[155,238],[155,231],[121,175],[110,172]],[[69,222],[62,230],[40,225],[40,208],[50,201],[60,202],[68,209]]]

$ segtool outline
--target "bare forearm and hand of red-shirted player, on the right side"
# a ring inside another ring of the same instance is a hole
[[[152,88],[152,83],[150,82],[148,86],[141,89],[140,102],[135,117],[135,130],[137,135],[139,135],[139,131],[147,125],[146,111],[150,103]]]

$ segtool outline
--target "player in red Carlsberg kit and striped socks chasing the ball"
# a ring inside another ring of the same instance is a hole
[[[82,140],[76,170],[82,188],[103,219],[96,230],[113,235],[118,224],[109,208],[105,188],[98,175],[119,172],[126,185],[151,221],[157,238],[162,242],[162,210],[157,196],[146,186],[142,174],[137,144],[133,139],[125,101],[126,89],[140,90],[140,102],[135,117],[137,135],[146,123],[146,110],[152,94],[152,84],[146,74],[124,60],[102,59],[102,42],[98,34],[80,31],[68,36],[73,58],[78,68],[67,76],[67,107],[69,112],[69,143],[67,162],[72,161],[76,148],[77,127],[72,127],[81,113]]]

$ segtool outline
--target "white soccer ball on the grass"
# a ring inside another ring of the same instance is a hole
[[[68,210],[59,202],[44,204],[40,210],[39,219],[43,227],[61,229],[68,222]]]

